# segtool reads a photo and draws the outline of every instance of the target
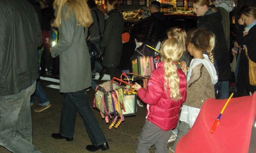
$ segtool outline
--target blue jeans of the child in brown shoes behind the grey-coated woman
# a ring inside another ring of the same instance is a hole
[[[48,97],[46,96],[41,84],[37,81],[37,87],[35,89],[35,93],[31,96],[30,104],[33,104],[35,101],[35,95],[38,97],[38,104],[40,106],[46,106],[50,104]]]

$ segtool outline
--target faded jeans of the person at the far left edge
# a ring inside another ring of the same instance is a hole
[[[0,145],[14,153],[40,153],[32,145],[30,97],[35,84],[17,94],[0,96]]]

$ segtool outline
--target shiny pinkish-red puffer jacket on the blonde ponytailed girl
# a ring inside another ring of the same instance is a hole
[[[148,121],[157,125],[163,131],[168,131],[177,126],[180,107],[187,96],[187,82],[186,75],[180,69],[177,69],[180,78],[180,92],[183,98],[177,102],[171,100],[170,88],[167,88],[167,92],[164,91],[163,66],[164,62],[158,63],[158,68],[152,72],[147,83],[147,90],[139,89],[138,96],[144,103],[148,104]]]

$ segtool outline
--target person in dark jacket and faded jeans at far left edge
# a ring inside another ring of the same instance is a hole
[[[11,152],[38,153],[30,108],[42,44],[38,15],[27,0],[1,0],[0,20],[0,145]]]

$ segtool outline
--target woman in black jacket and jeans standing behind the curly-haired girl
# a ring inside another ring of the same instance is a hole
[[[218,67],[218,85],[219,99],[229,97],[229,80],[230,80],[230,60],[229,49],[227,48],[224,30],[222,26],[222,16],[214,5],[210,5],[209,0],[194,0],[193,9],[197,19],[197,27],[205,28],[216,36],[214,57]]]

